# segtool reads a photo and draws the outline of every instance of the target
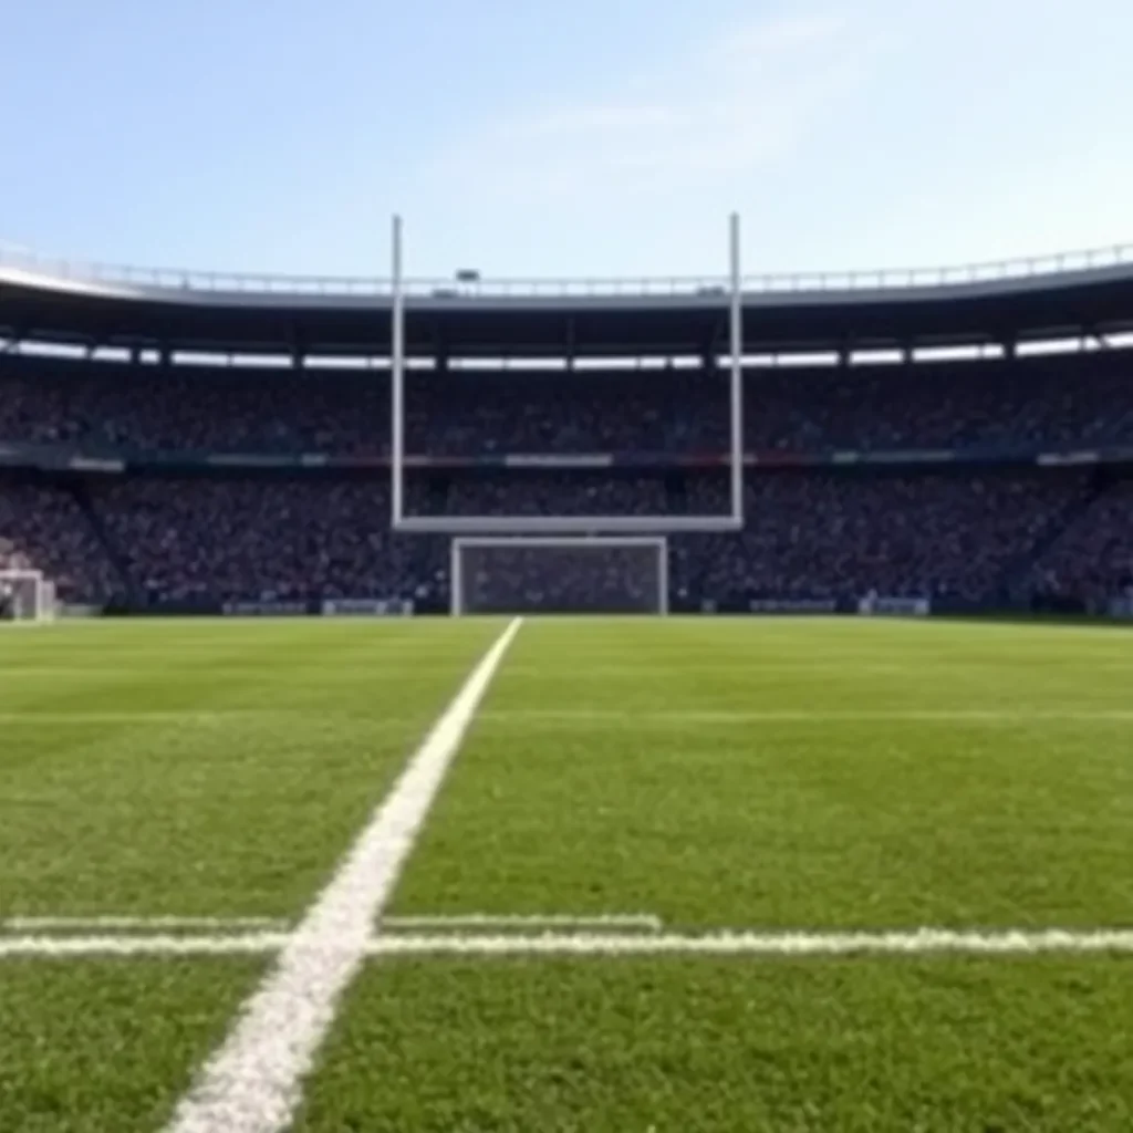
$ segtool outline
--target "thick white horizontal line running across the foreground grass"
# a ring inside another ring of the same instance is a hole
[[[282,932],[245,932],[235,936],[14,936],[0,937],[0,960],[75,959],[84,956],[235,956],[284,954],[295,949],[295,937]],[[516,935],[452,934],[412,936],[366,936],[343,944],[334,939],[312,938],[304,944],[308,964],[339,964],[344,955],[353,956],[749,956],[821,957],[860,955],[969,955],[1028,956],[1043,953],[1133,954],[1133,929],[1000,929],[956,931],[922,928],[887,932],[757,932],[730,930],[701,934],[662,935],[613,932],[543,932]],[[247,1017],[247,1016],[245,1016]],[[284,1030],[287,1021],[280,1025]],[[276,1056],[295,1050],[295,1036],[272,1037],[261,1051],[265,1072],[276,1071]],[[231,1043],[229,1043],[230,1046]],[[228,1049],[228,1047],[225,1047]],[[215,1060],[213,1064],[215,1066]],[[242,1066],[244,1064],[241,1064]],[[236,1107],[246,1082],[236,1073],[227,1085],[231,1091],[228,1123],[212,1128],[244,1130],[259,1126],[238,1124],[242,1110]],[[278,1071],[276,1071],[278,1072]],[[184,1113],[182,1106],[182,1113]],[[182,1117],[184,1119],[184,1117]],[[207,1126],[191,1126],[206,1128]],[[274,1128],[275,1126],[273,1126]]]

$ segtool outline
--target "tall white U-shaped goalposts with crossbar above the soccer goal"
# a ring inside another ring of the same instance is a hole
[[[431,535],[585,535],[594,533],[736,531],[743,527],[743,280],[740,218],[729,220],[729,287],[697,298],[726,307],[729,322],[729,509],[717,514],[638,516],[416,516],[406,511],[406,288],[403,225],[393,218],[391,253],[391,520],[395,531]],[[569,377],[565,381],[570,381]]]

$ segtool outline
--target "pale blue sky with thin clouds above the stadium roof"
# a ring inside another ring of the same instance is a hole
[[[35,0],[0,242],[494,276],[1133,241],[1130,0]]]

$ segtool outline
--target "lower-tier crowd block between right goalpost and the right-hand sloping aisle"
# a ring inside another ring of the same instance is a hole
[[[1063,474],[853,476],[749,480],[744,529],[675,556],[691,594],[751,598],[893,597],[983,602],[1006,595],[1051,522],[1085,499]]]

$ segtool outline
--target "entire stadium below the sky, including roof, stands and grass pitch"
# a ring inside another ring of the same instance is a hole
[[[5,1133],[1133,1127],[1133,256],[738,249],[0,265]]]

